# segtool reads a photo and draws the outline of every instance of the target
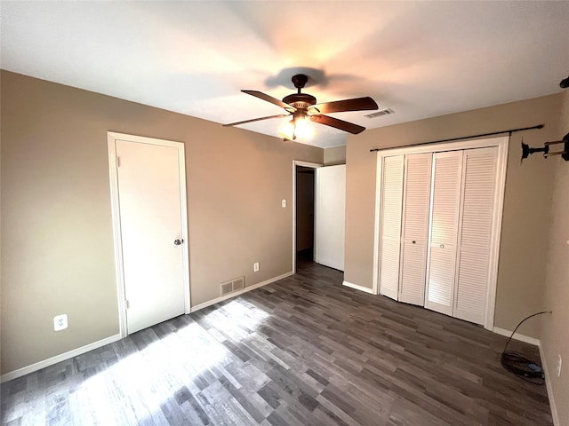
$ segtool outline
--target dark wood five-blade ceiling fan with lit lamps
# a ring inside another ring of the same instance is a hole
[[[348,131],[349,133],[357,135],[365,130],[365,127],[355,124],[353,122],[344,122],[338,118],[325,115],[328,113],[342,113],[346,111],[364,111],[378,109],[379,106],[370,97],[336,100],[333,102],[325,102],[317,104],[317,99],[308,93],[301,93],[301,89],[309,81],[309,77],[304,74],[293,75],[294,87],[298,90],[296,93],[285,96],[283,100],[273,98],[261,91],[243,91],[248,95],[256,98],[266,100],[276,106],[284,108],[287,114],[269,115],[268,117],[253,118],[251,120],[244,120],[243,122],[231,122],[223,124],[223,126],[237,126],[247,122],[259,122],[261,120],[268,120],[270,118],[282,118],[293,116],[290,122],[285,124],[281,134],[285,139],[310,138],[314,136],[314,130],[309,126],[308,122],[319,122],[325,126],[330,126],[335,129]]]

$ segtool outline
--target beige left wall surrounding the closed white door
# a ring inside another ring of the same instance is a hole
[[[292,271],[293,160],[320,148],[2,72],[2,374],[118,333],[107,131],[186,146],[192,305]],[[252,272],[253,262],[260,272]],[[69,327],[54,332],[53,316]]]

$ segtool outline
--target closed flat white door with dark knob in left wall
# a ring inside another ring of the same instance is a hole
[[[116,140],[129,334],[186,312],[187,264],[186,250],[182,248],[187,237],[182,226],[186,207],[180,196],[184,176],[180,170],[181,148],[180,152],[180,146]]]

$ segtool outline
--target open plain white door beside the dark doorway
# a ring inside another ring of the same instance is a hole
[[[344,236],[346,215],[346,165],[316,169],[317,264],[344,270]]]

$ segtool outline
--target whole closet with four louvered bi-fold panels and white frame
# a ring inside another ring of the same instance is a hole
[[[376,288],[493,326],[508,138],[378,152]]]

